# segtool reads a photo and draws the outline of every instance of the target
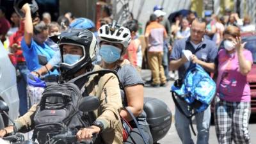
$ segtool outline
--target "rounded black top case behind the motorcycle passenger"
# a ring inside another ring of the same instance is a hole
[[[144,111],[154,143],[161,140],[169,131],[172,124],[172,113],[168,106],[159,99],[145,97]]]

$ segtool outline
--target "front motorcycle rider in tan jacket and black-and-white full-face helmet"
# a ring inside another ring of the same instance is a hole
[[[61,76],[66,81],[80,76],[89,71],[100,70],[99,65],[93,65],[97,52],[97,40],[95,35],[87,29],[68,29],[55,36],[55,42],[60,45]],[[95,122],[90,127],[85,127],[77,132],[77,138],[90,140],[92,134],[100,134],[106,144],[122,143],[122,124],[119,113],[122,108],[122,100],[118,79],[115,74],[104,76],[92,76],[84,84],[84,95],[95,95],[100,100]],[[108,97],[107,97],[108,95]],[[28,113],[15,120],[17,131],[27,132],[33,129],[33,116],[36,105],[29,109]],[[13,126],[5,127],[0,131],[0,137],[13,132]]]

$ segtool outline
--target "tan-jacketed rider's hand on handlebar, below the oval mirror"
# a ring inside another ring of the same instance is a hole
[[[92,125],[91,127],[80,129],[76,134],[77,140],[78,141],[81,141],[83,139],[91,140],[92,134],[95,134],[95,133],[99,134],[99,132],[100,132],[100,128],[95,125]]]

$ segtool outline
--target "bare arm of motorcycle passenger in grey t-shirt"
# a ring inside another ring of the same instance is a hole
[[[127,98],[127,108],[132,111],[135,117],[139,116],[143,111],[143,85],[127,86],[124,90]],[[120,115],[128,122],[132,120],[132,117],[125,109],[122,109]]]

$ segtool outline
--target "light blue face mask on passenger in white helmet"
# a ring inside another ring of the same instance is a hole
[[[113,45],[101,45],[100,56],[106,63],[114,63],[121,56],[121,49]]]

